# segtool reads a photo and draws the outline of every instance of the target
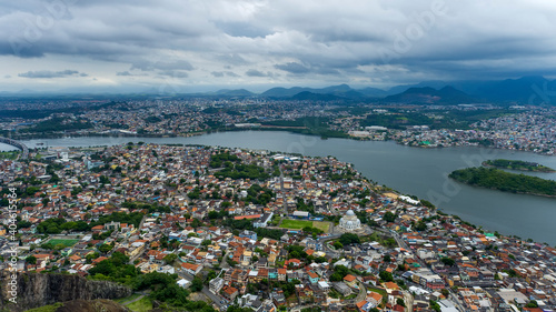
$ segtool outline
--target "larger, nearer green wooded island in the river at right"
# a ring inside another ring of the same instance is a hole
[[[556,197],[556,181],[516,174],[495,168],[467,168],[453,171],[449,178],[474,187],[503,192]]]

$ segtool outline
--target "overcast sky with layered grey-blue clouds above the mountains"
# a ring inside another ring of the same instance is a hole
[[[554,17],[554,0],[2,1],[0,91],[555,77]]]

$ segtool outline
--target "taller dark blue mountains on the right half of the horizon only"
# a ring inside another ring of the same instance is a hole
[[[320,101],[375,100],[383,103],[441,105],[493,102],[556,105],[556,80],[534,76],[497,81],[425,81],[418,84],[396,85],[389,90],[370,87],[351,89],[347,84],[322,89],[272,88],[259,97]]]

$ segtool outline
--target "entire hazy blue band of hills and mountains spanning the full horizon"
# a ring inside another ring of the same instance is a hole
[[[496,81],[424,81],[417,84],[396,85],[388,90],[378,88],[353,89],[347,84],[326,88],[271,88],[262,93],[254,93],[246,89],[221,89],[216,92],[165,93],[160,90],[117,92],[113,88],[100,90],[76,89],[60,92],[37,92],[21,90],[19,92],[0,92],[0,97],[39,97],[52,94],[75,95],[171,95],[171,97],[209,97],[209,98],[269,98],[299,101],[365,101],[379,103],[406,104],[464,104],[464,103],[505,103],[505,104],[549,104],[556,105],[556,80],[540,76],[522,77]]]

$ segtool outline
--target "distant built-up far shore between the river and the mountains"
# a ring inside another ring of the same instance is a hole
[[[488,147],[553,155],[556,109],[497,104],[294,101],[268,98],[52,100],[0,104],[3,137],[190,137],[280,130],[420,148]]]

